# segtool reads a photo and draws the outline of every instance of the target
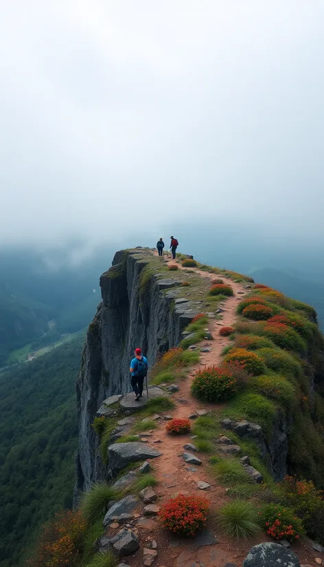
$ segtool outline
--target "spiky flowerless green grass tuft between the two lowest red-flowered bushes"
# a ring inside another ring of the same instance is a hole
[[[252,537],[260,530],[257,509],[251,502],[233,500],[218,511],[218,523],[230,537]]]

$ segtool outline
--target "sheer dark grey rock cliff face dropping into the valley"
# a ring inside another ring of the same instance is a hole
[[[178,344],[181,331],[198,312],[195,302],[174,300],[177,282],[161,279],[150,260],[148,248],[117,252],[112,268],[100,278],[102,303],[89,325],[77,380],[78,491],[106,476],[91,424],[106,397],[130,391],[134,349],[140,346],[152,366],[160,352]]]

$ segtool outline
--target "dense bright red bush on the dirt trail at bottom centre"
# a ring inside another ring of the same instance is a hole
[[[161,507],[159,516],[169,531],[180,535],[195,535],[207,520],[209,501],[200,496],[179,494]]]

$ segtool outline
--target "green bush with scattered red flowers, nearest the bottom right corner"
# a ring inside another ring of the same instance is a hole
[[[270,503],[264,507],[260,516],[264,530],[274,540],[299,540],[303,533],[303,524],[291,508]]]

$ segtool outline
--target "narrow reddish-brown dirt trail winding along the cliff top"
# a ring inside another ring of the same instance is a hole
[[[167,264],[174,262],[171,258],[165,257]],[[179,268],[182,268],[179,265]],[[203,270],[194,270],[195,274],[207,279],[215,279],[215,274],[206,273]],[[222,319],[209,319],[208,329],[213,336],[212,340],[203,340],[198,347],[207,347],[208,353],[200,353],[200,362],[192,367],[188,374],[187,379],[178,384],[179,391],[172,396],[172,400],[176,403],[174,410],[167,412],[172,417],[188,417],[196,410],[215,410],[220,408],[217,404],[206,404],[196,400],[191,393],[192,378],[196,371],[201,367],[209,366],[211,364],[220,364],[222,360],[222,350],[229,344],[229,338],[219,335],[220,327],[224,325],[233,325],[236,319],[236,308],[238,301],[244,297],[246,288],[242,283],[235,283],[230,278],[222,275],[224,283],[229,283],[233,288],[234,295],[229,297],[222,303]],[[206,327],[207,328],[207,327]],[[152,447],[159,448],[163,453],[160,459],[152,463],[154,467],[154,476],[157,478],[157,494],[159,495],[159,504],[165,502],[169,498],[177,494],[196,494],[198,496],[205,496],[210,500],[211,510],[217,510],[225,502],[228,497],[224,486],[218,485],[215,478],[211,477],[208,473],[207,467],[209,464],[209,455],[202,452],[195,453],[198,459],[202,461],[200,466],[192,466],[185,463],[183,460],[183,445],[186,443],[194,443],[191,439],[190,433],[188,435],[181,435],[172,437],[165,431],[167,421],[159,420],[159,427],[152,431],[152,437],[148,438],[148,444]],[[209,483],[210,487],[206,490],[198,488],[198,481],[205,481]],[[211,529],[211,526],[209,526]],[[205,566],[205,567],[220,567],[227,563],[242,564],[242,559],[246,556],[248,549],[254,544],[250,540],[248,544],[234,543],[226,537],[218,539],[218,543],[211,545],[203,545],[196,548],[190,548],[188,541],[181,542],[175,540],[170,535],[161,531],[161,527],[156,520],[149,520],[148,531],[150,537],[158,542],[159,548],[159,562],[157,565],[168,565],[175,567],[185,566]],[[213,533],[213,529],[211,529]],[[257,540],[255,540],[255,543]],[[134,565],[140,565],[141,562]],[[132,564],[133,565],[133,564]]]

